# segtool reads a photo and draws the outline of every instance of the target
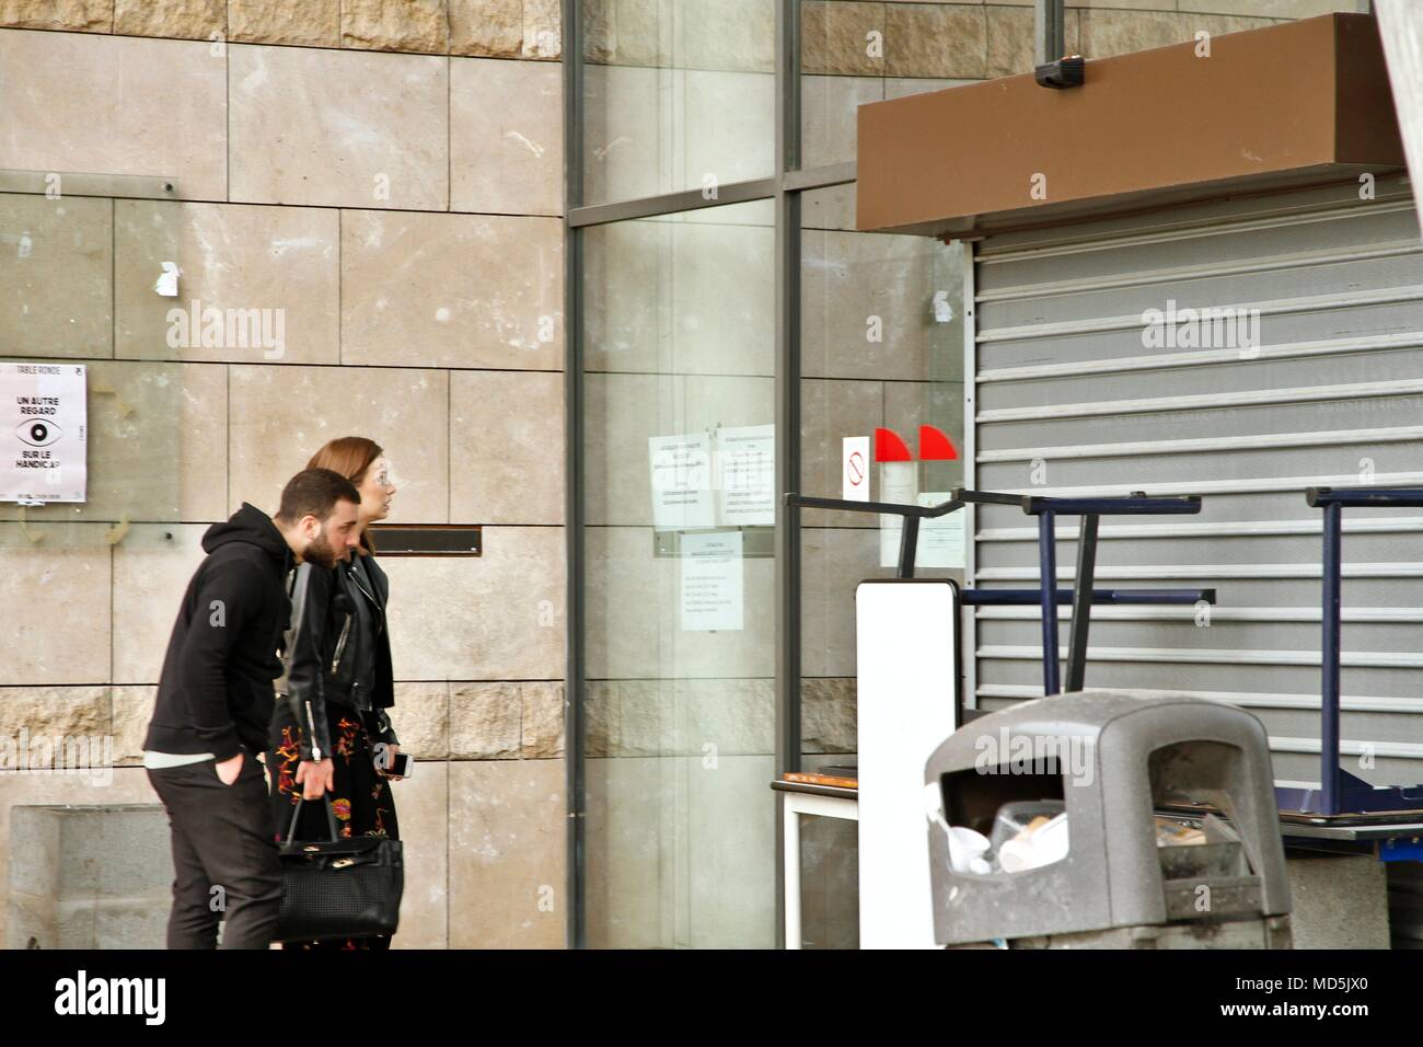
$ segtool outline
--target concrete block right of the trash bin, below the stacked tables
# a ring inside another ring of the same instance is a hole
[[[1389,892],[1373,855],[1286,852],[1295,949],[1387,949]]]

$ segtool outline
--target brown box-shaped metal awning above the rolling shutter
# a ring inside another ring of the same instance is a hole
[[[857,228],[931,236],[1403,168],[1377,26],[1303,21],[859,107]],[[1035,191],[1037,195],[1035,195]]]

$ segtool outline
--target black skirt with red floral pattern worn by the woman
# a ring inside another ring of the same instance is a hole
[[[336,788],[332,791],[332,813],[343,838],[388,836],[400,839],[396,801],[390,781],[376,771],[376,752],[360,712],[349,705],[326,704],[332,732],[332,761]],[[277,704],[272,724],[272,751],[268,754],[268,773],[272,779],[272,821],[276,839],[283,842],[292,826],[292,812],[302,798],[296,783],[300,762],[300,728],[285,704]],[[326,821],[326,802],[307,801],[297,818],[295,839],[324,840],[332,838]],[[390,937],[376,934],[332,942],[287,943],[286,949],[388,949]]]

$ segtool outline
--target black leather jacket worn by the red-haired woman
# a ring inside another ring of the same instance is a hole
[[[305,575],[305,577],[303,577]],[[376,557],[333,570],[302,564],[292,590],[292,652],[279,691],[302,728],[302,759],[330,755],[327,702],[361,715],[373,741],[398,745],[386,709],[396,704],[386,598]]]

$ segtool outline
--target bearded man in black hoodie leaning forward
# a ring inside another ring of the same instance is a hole
[[[208,557],[188,583],[144,739],[172,828],[169,949],[215,947],[222,919],[223,949],[266,949],[276,930],[282,869],[256,756],[282,675],[286,574],[293,561],[334,567],[359,540],[359,503],[340,473],[307,469],[286,484],[276,517],[243,503],[202,538]],[[320,796],[332,762],[313,748],[300,771]]]

